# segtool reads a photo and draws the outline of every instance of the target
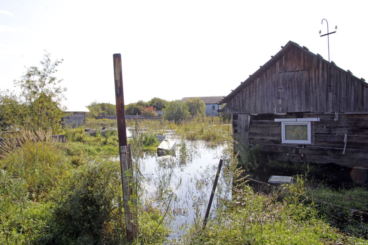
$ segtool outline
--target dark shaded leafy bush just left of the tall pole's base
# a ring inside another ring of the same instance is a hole
[[[123,241],[123,194],[119,164],[92,161],[70,174],[54,193],[42,244],[107,244]]]

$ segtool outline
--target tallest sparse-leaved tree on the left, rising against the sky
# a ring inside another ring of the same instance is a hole
[[[50,54],[45,52],[40,61],[40,69],[31,66],[20,80],[14,80],[14,84],[21,90],[18,104],[26,106],[27,116],[20,120],[23,121],[22,124],[28,123],[29,128],[52,128],[57,132],[62,127],[60,120],[64,116],[65,107],[61,106],[61,101],[65,99],[63,92],[66,88],[60,86],[62,79],[55,77],[56,68],[62,61],[52,61]]]

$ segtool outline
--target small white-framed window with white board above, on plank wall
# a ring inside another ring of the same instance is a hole
[[[319,118],[277,118],[281,122],[281,143],[311,144],[311,122]]]

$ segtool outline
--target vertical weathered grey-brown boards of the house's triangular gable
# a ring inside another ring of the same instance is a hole
[[[226,105],[231,113],[368,111],[368,84],[293,47]]]

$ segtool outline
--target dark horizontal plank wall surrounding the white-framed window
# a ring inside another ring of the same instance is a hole
[[[319,122],[312,122],[311,145],[282,144],[281,123],[275,118],[318,117]],[[238,125],[245,117],[238,115]],[[334,163],[349,167],[368,167],[368,114],[335,113],[302,114],[284,116],[272,114],[251,116],[249,126],[249,145],[261,146],[261,151],[277,160],[299,161],[306,163]],[[314,134],[313,134],[314,132]],[[347,134],[346,152],[343,155],[344,136]]]

